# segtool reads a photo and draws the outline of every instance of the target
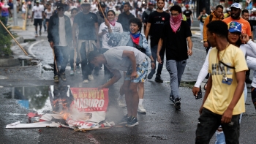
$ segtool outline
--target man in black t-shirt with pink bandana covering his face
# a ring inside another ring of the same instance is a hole
[[[181,7],[170,8],[170,21],[165,23],[157,47],[157,61],[162,64],[162,52],[166,50],[166,69],[170,74],[170,100],[176,110],[181,109],[181,97],[178,87],[187,64],[188,56],[192,56],[192,34],[187,22],[182,19]],[[162,45],[165,43],[165,45]],[[187,45],[188,43],[188,45]],[[187,46],[189,49],[187,49]]]

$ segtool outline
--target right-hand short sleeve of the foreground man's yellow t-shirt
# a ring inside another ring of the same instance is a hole
[[[244,70],[248,70],[246,60],[244,58],[244,53],[242,50],[238,49],[236,56],[234,56],[234,64],[235,64],[235,72],[241,72]]]

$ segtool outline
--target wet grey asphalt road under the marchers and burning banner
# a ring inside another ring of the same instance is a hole
[[[9,77],[0,80],[0,143],[195,143],[195,129],[198,109],[202,99],[195,100],[191,88],[179,88],[181,95],[181,110],[176,111],[169,102],[170,86],[167,83],[169,75],[166,69],[162,71],[164,83],[155,83],[154,77],[145,83],[144,107],[146,114],[138,114],[139,125],[134,127],[111,128],[91,132],[74,132],[65,128],[40,129],[5,129],[7,124],[16,121],[28,121],[27,110],[18,105],[16,99],[6,99],[4,94],[10,93],[14,86],[50,86],[59,85],[72,87],[97,87],[104,83],[103,70],[89,84],[82,83],[82,76],[69,76],[67,67],[67,82],[53,83],[53,71],[46,71],[42,66],[53,63],[53,56],[46,34],[37,38],[37,43],[31,47],[41,63],[34,67],[0,68],[0,75]],[[182,80],[195,81],[203,65],[206,52],[198,37],[192,37],[194,44],[193,56],[189,57]],[[33,45],[32,42],[29,45]],[[29,48],[29,46],[28,46]],[[21,52],[20,52],[21,53]],[[252,72],[251,72],[252,73]],[[110,87],[109,106],[106,119],[117,123],[125,113],[125,109],[117,106],[116,98],[123,80]],[[249,91],[249,89],[248,89]],[[246,100],[246,113],[241,122],[241,143],[255,143],[255,108],[249,95]],[[211,143],[214,143],[215,137]]]

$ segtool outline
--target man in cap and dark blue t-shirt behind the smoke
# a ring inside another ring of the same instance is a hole
[[[89,80],[94,80],[91,72],[93,67],[88,63],[88,55],[91,51],[99,48],[99,37],[97,32],[99,31],[97,15],[90,12],[91,3],[89,1],[83,1],[81,3],[82,12],[75,15],[74,23],[72,26],[73,45],[78,50],[82,66],[83,83],[89,83]],[[76,30],[79,30],[78,43],[76,39]]]

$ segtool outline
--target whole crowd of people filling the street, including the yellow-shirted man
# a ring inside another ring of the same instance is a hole
[[[148,4],[140,0],[35,3],[31,7],[31,20],[36,36],[37,26],[41,35],[43,23],[46,25],[48,41],[55,53],[55,83],[60,79],[66,81],[68,62],[70,75],[79,73],[81,68],[83,83],[93,81],[99,69],[104,67],[106,83],[99,88],[112,86],[121,79],[120,71],[123,71],[124,83],[120,86],[117,102],[120,107],[127,107],[127,115],[120,124],[136,126],[137,113],[146,113],[144,82],[156,74],[154,80],[163,83],[161,72],[166,56],[166,69],[170,74],[169,99],[176,110],[181,109],[182,96],[178,88],[187,59],[193,54],[191,5],[185,5],[186,10],[182,10],[179,5],[169,7],[164,0]],[[192,88],[196,99],[203,97],[195,143],[209,143],[214,133],[216,143],[239,143],[246,83],[252,83],[252,102],[256,108],[256,72],[253,80],[249,80],[248,71],[248,68],[256,70],[253,41],[256,9],[249,14],[248,10],[242,10],[241,4],[233,3],[227,15],[223,15],[223,10],[224,7],[218,5],[208,15],[203,9],[197,17],[207,56]],[[151,65],[151,72],[148,72],[148,65]],[[208,82],[204,86],[206,94],[202,96],[200,83],[205,78]]]

